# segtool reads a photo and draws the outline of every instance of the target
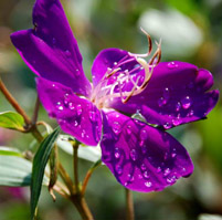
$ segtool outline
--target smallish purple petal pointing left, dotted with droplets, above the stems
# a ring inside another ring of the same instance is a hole
[[[42,77],[36,78],[39,97],[63,132],[85,145],[96,146],[102,134],[101,112],[88,99],[76,96],[70,87]]]

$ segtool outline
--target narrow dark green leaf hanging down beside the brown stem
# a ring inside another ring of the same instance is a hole
[[[57,127],[41,143],[40,148],[34,156],[31,179],[31,219],[34,218],[35,208],[41,193],[44,169],[59,134],[60,128]]]

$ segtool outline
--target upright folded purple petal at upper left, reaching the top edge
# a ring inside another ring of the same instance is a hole
[[[28,66],[38,75],[88,96],[91,83],[82,55],[59,0],[36,0],[34,29],[18,31],[11,40]]]

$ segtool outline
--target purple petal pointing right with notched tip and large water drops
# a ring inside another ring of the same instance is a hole
[[[212,85],[207,70],[178,61],[160,63],[142,93],[126,104],[115,98],[110,107],[130,114],[139,111],[148,123],[168,129],[204,118],[219,98],[219,91],[208,92]]]

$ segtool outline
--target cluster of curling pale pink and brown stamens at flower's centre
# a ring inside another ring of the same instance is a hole
[[[126,104],[131,96],[140,94],[148,85],[154,67],[161,57],[161,42],[157,43],[157,50],[149,62],[144,57],[151,53],[151,39],[147,32],[149,49],[146,54],[127,53],[118,62],[114,62],[112,67],[107,67],[103,78],[96,85],[91,96],[91,101],[98,108],[108,107],[115,98],[120,98]]]

